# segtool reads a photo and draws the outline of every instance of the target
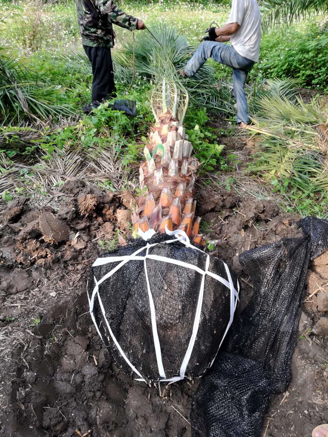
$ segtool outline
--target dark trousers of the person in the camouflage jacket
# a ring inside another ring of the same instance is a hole
[[[113,62],[109,47],[83,46],[92,65],[92,101],[101,102],[107,97],[116,97]]]

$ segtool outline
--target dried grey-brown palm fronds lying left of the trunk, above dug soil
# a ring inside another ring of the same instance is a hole
[[[52,159],[43,160],[42,156],[31,159],[31,156],[18,154],[8,160],[2,153],[0,160],[0,193],[23,193],[31,198],[31,205],[39,205],[45,196],[67,180],[81,179],[87,184],[111,181],[116,190],[127,184],[122,158],[115,148],[96,150],[91,146],[86,152],[66,144],[52,154]],[[51,206],[58,209],[56,201]]]

